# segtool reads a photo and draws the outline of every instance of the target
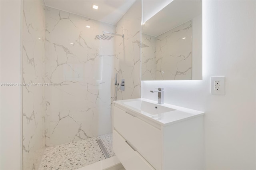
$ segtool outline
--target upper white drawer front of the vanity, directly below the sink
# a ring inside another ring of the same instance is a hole
[[[114,129],[154,168],[161,169],[161,131],[114,106]]]

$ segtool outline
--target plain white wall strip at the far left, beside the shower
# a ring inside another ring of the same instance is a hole
[[[21,1],[0,1],[0,83],[21,83]],[[1,170],[21,169],[21,87],[1,90]]]

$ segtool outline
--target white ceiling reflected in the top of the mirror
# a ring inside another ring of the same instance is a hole
[[[145,22],[142,33],[157,37],[201,14],[202,0],[173,0]]]

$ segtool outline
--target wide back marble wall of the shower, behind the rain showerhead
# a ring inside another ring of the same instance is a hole
[[[115,38],[94,40],[102,31],[114,26],[47,7],[46,146],[112,132]]]

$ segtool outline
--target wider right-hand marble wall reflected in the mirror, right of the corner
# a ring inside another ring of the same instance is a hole
[[[182,38],[186,39],[182,39]],[[156,38],[156,80],[192,79],[192,20]]]

